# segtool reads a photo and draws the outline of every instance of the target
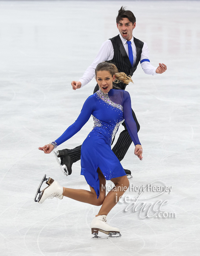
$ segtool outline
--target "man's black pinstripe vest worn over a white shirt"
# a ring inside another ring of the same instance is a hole
[[[139,64],[144,43],[137,38],[133,38],[136,46],[136,64],[134,67],[131,67],[130,60],[119,35],[110,38],[110,41],[113,44],[114,56],[112,60],[107,62],[115,64],[119,72],[124,72],[127,76],[133,76],[133,73],[136,71],[137,65]],[[119,83],[117,84],[117,87],[125,90],[126,85],[127,84]]]

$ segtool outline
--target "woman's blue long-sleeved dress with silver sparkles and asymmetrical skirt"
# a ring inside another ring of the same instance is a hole
[[[130,95],[124,90],[101,90],[89,96],[77,120],[55,142],[60,145],[76,134],[93,116],[94,127],[81,147],[81,175],[99,197],[98,167],[106,180],[126,175],[121,163],[111,150],[112,140],[125,121],[128,133],[135,145],[140,144],[136,122],[131,111]],[[140,144],[141,145],[141,144]]]

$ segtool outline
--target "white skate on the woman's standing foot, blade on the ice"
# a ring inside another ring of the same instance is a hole
[[[111,227],[106,223],[106,215],[99,215],[95,218],[93,218],[93,221],[91,223],[91,230],[92,234],[94,235],[93,238],[101,238],[101,239],[107,239],[107,238],[117,238],[121,237],[120,231],[117,227]],[[98,233],[102,232],[109,236],[107,237],[101,237],[98,236]]]

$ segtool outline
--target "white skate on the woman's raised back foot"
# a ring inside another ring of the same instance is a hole
[[[43,182],[46,180],[46,184],[48,185],[45,189],[42,191],[41,186]],[[39,194],[39,196],[38,196]],[[37,198],[38,196],[38,198]],[[35,202],[38,202],[39,204],[42,204],[43,201],[45,201],[47,198],[54,198],[57,197],[59,199],[63,199],[63,187],[58,183],[58,181],[53,180],[52,178],[46,178],[46,174],[44,175],[40,186],[38,187],[38,190],[35,195]]]

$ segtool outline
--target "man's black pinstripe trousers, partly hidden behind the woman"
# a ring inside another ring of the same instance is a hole
[[[99,85],[97,84],[94,89],[94,93],[96,93],[98,90],[99,90]],[[136,122],[137,132],[138,132],[140,126],[139,126],[139,123],[136,119],[136,115],[133,110],[132,110],[132,114],[133,114],[133,119]],[[131,140],[128,130],[126,128],[125,122],[123,122],[122,125],[124,126],[125,129],[124,129],[124,131],[122,131],[119,134],[119,138],[112,149],[112,151],[114,152],[116,157],[119,159],[119,161],[122,161],[122,159],[125,157],[125,154],[128,151],[128,148],[130,147],[130,145],[132,143],[132,140]],[[114,142],[114,139],[112,141],[112,144]],[[81,159],[81,145],[76,148],[73,148],[73,149],[67,149],[67,151],[68,151],[69,156],[72,158],[73,163],[75,163],[76,161]]]

